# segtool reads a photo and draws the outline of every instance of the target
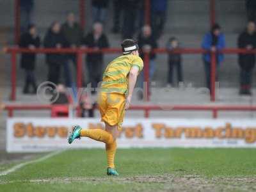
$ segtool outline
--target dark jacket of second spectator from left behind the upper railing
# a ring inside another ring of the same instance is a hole
[[[44,38],[44,47],[56,48],[57,44],[61,44],[61,48],[68,47],[68,43],[62,33],[53,33],[51,29],[49,29]],[[46,54],[46,62],[62,64],[65,62],[65,54],[48,53]]]

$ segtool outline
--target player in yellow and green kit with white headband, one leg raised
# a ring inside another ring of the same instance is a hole
[[[122,130],[125,110],[129,109],[138,74],[143,68],[143,61],[139,56],[138,49],[135,40],[124,40],[122,42],[123,55],[111,61],[103,74],[98,105],[105,130],[83,129],[76,125],[68,136],[68,143],[70,144],[81,137],[88,137],[105,143],[108,175],[118,176],[114,164],[116,137],[118,131]]]

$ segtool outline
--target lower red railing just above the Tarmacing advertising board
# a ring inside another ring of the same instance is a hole
[[[63,105],[67,106],[67,105]],[[13,116],[13,111],[17,110],[51,110],[54,105],[20,105],[20,104],[10,104],[4,106],[4,109],[8,111],[8,116]],[[76,106],[74,109],[79,109]],[[200,106],[200,105],[137,105],[131,106],[129,110],[144,111],[144,116],[149,117],[149,111],[211,111],[212,118],[218,117],[218,111],[256,111],[256,106]]]

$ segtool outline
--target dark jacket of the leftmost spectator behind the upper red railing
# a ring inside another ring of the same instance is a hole
[[[40,38],[39,36],[36,36],[36,38],[33,38],[32,35],[29,33],[24,33],[20,37],[20,47],[28,48],[29,45],[34,45],[35,47],[40,46]],[[20,65],[21,68],[28,69],[28,70],[34,70],[35,69],[35,59],[36,54],[33,53],[22,53],[21,59],[20,59]]]

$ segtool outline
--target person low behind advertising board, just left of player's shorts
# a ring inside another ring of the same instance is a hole
[[[81,117],[94,117],[94,108],[96,104],[92,103],[88,95],[83,95],[81,97],[80,108]]]

